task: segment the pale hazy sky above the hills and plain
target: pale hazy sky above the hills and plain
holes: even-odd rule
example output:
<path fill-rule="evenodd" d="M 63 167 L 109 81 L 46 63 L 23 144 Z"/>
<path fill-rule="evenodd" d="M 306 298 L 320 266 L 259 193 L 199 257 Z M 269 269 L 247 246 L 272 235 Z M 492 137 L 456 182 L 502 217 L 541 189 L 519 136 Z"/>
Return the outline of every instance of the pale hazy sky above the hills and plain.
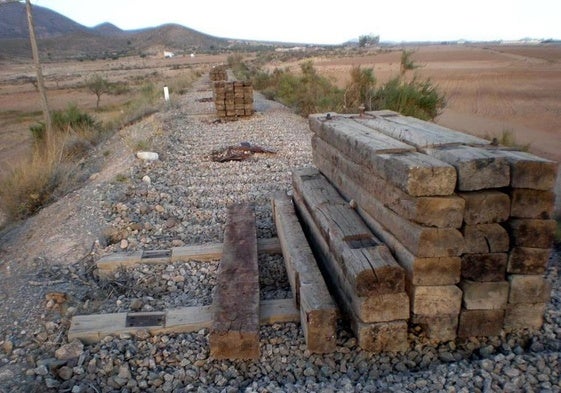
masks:
<path fill-rule="evenodd" d="M 561 38 L 561 0 L 32 0 L 78 23 L 178 23 L 216 37 L 339 44 Z"/>

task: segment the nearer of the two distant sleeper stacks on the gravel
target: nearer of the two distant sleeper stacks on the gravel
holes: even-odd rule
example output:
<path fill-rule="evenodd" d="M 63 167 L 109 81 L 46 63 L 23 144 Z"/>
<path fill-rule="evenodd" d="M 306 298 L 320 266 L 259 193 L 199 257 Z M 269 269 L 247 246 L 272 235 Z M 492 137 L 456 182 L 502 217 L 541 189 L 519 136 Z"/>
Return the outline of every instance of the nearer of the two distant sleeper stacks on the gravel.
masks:
<path fill-rule="evenodd" d="M 251 82 L 216 81 L 213 99 L 220 118 L 238 118 L 253 115 L 253 86 Z"/>

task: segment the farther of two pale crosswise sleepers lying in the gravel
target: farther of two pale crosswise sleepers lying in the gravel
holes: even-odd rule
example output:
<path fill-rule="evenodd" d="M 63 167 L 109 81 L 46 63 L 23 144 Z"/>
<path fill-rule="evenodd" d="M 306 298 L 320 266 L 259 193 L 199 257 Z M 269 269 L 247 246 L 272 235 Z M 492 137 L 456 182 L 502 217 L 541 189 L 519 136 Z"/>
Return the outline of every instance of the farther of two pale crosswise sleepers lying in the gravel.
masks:
<path fill-rule="evenodd" d="M 146 251 L 115 253 L 107 255 L 97 261 L 97 269 L 101 276 L 108 275 L 121 267 L 130 267 L 149 263 L 174 263 L 187 261 L 218 261 L 222 258 L 222 243 L 208 243 L 184 247 L 173 247 L 169 256 L 165 258 L 145 258 Z M 168 253 L 168 250 L 156 250 L 152 253 Z M 257 239 L 257 252 L 267 254 L 281 254 L 282 250 L 278 238 Z"/>

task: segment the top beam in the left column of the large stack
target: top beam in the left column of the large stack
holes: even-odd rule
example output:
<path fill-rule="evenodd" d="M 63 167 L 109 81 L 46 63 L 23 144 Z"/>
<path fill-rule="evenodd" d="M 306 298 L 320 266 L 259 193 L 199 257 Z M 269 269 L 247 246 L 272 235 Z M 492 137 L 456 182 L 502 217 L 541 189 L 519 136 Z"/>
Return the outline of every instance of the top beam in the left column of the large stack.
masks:
<path fill-rule="evenodd" d="M 339 116 L 339 115 L 338 115 Z M 341 116 L 344 117 L 344 116 Z M 322 140 L 336 146 L 354 163 L 368 168 L 369 173 L 379 176 L 412 196 L 451 195 L 456 187 L 456 170 L 426 154 L 412 150 L 399 154 L 381 154 L 380 149 L 368 149 L 368 145 L 355 148 L 325 132 L 325 116 L 310 116 L 310 128 Z M 352 122 L 351 119 L 346 121 Z M 328 129 L 329 130 L 329 129 Z M 345 134 L 344 129 L 339 130 Z M 356 141 L 355 141 L 356 142 Z"/>

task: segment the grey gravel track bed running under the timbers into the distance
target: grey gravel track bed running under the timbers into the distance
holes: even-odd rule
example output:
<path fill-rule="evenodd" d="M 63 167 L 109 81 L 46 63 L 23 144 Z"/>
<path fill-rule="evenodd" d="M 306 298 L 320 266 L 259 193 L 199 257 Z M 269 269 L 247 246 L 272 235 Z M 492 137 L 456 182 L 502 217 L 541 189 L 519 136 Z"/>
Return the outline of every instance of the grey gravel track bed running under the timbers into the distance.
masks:
<path fill-rule="evenodd" d="M 276 236 L 270 197 L 290 191 L 291 169 L 311 165 L 307 121 L 259 95 L 249 119 L 215 123 L 202 79 L 161 115 L 153 142 L 156 162 L 137 160 L 103 188 L 107 228 L 95 255 L 68 266 L 37 266 L 34 279 L 70 294 L 60 313 L 47 304 L 40 326 L 3 329 L 0 392 L 560 392 L 560 252 L 552 254 L 553 284 L 544 327 L 499 337 L 431 343 L 410 332 L 405 353 L 376 354 L 338 328 L 337 350 L 311 354 L 298 324 L 260 330 L 257 361 L 215 360 L 208 331 L 138 337 L 123 334 L 82 346 L 67 343 L 75 314 L 152 311 L 212 301 L 218 261 L 139 265 L 114 280 L 97 280 L 93 265 L 117 251 L 157 250 L 221 242 L 228 204 L 255 206 L 259 238 Z M 203 100 L 204 101 L 204 100 Z M 208 116 L 205 115 L 208 113 Z M 216 163 L 212 152 L 248 142 L 276 151 L 242 162 Z M 282 256 L 260 255 L 262 299 L 292 296 Z M 58 283 L 57 283 L 58 282 Z"/>

